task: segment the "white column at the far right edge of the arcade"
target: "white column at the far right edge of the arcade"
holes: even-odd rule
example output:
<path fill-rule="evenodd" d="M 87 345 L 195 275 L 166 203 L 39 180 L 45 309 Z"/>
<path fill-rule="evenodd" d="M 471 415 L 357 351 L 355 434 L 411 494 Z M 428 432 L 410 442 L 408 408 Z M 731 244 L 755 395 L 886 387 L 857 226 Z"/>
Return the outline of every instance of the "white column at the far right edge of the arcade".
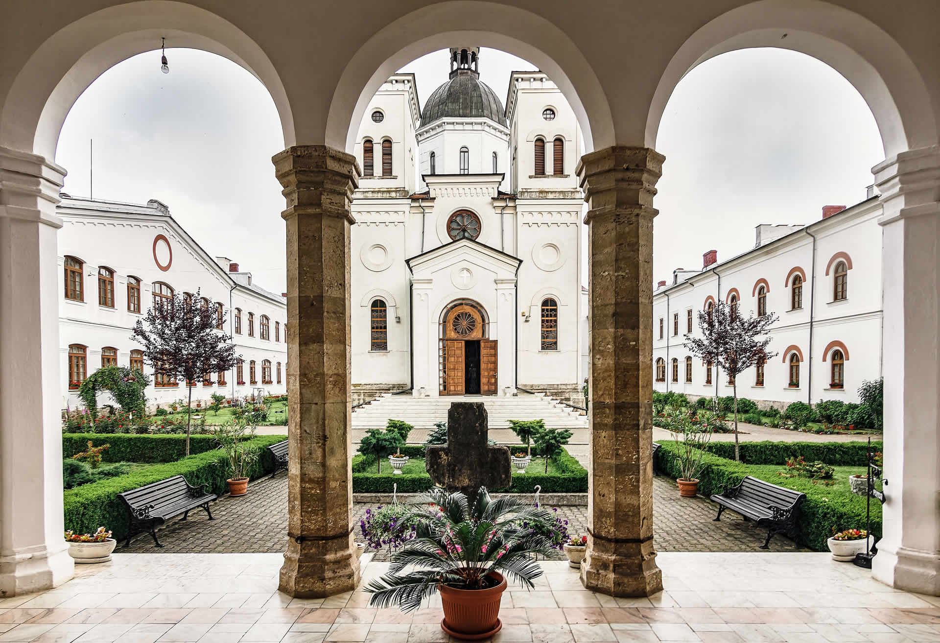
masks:
<path fill-rule="evenodd" d="M 940 146 L 872 168 L 884 215 L 884 538 L 872 572 L 940 595 Z M 856 288 L 864 288 L 860 284 Z"/>

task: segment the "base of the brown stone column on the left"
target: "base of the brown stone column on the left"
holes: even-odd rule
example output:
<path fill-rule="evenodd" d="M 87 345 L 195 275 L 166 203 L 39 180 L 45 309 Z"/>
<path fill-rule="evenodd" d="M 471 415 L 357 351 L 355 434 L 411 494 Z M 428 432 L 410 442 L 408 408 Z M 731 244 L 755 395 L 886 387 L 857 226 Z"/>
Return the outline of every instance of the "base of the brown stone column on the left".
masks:
<path fill-rule="evenodd" d="M 278 589 L 294 598 L 325 598 L 352 591 L 360 578 L 354 550 L 352 537 L 348 541 L 290 539 Z"/>

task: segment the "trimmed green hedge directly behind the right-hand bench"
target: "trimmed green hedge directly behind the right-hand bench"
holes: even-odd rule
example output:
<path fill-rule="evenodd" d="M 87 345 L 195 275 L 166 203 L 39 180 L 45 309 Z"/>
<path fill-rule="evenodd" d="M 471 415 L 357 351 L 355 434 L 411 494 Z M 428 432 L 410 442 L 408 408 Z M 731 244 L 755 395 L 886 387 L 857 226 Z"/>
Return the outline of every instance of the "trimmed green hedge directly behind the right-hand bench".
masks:
<path fill-rule="evenodd" d="M 672 478 L 681 473 L 676 458 L 678 451 L 674 442 L 662 442 L 656 452 L 656 466 Z M 744 444 L 741 445 L 744 447 Z M 795 489 L 807 494 L 800 506 L 797 520 L 798 540 L 817 552 L 828 551 L 826 540 L 834 533 L 850 528 L 865 528 L 865 498 L 851 492 L 821 484 L 813 484 L 807 478 L 784 478 L 777 476 L 776 467 L 736 463 L 733 460 L 707 454 L 705 467 L 698 475 L 698 494 L 708 497 L 720 494 L 729 487 L 737 486 L 744 476 L 754 476 L 779 487 Z M 836 472 L 837 476 L 843 472 Z M 875 538 L 882 535 L 881 506 L 871 503 L 871 533 Z"/>

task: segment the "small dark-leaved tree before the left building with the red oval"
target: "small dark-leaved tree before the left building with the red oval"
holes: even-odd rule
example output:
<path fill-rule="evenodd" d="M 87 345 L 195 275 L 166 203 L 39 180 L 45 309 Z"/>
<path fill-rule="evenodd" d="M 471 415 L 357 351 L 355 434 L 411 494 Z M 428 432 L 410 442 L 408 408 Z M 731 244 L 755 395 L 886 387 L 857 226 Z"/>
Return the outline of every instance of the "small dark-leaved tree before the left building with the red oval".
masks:
<path fill-rule="evenodd" d="M 137 320 L 131 338 L 144 347 L 144 362 L 154 374 L 171 382 L 182 379 L 189 391 L 186 404 L 186 455 L 189 455 L 189 435 L 192 423 L 193 386 L 207 373 L 228 370 L 242 358 L 235 354 L 231 336 L 218 330 L 225 328 L 225 318 L 219 321 L 216 305 L 200 306 L 196 296 L 162 300 L 153 306 L 142 320 Z"/>

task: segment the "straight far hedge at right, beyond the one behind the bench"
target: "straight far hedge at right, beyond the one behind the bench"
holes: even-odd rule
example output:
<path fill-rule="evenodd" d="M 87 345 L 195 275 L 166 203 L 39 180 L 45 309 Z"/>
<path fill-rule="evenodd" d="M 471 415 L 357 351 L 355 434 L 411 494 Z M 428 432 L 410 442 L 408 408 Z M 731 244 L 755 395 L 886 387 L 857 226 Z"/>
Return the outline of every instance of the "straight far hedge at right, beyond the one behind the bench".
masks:
<path fill-rule="evenodd" d="M 865 442 L 742 442 L 741 462 L 747 464 L 786 464 L 803 456 L 834 466 L 866 466 L 869 445 Z M 706 451 L 734 460 L 733 442 L 710 442 Z M 872 451 L 883 450 L 881 442 L 871 443 Z"/>

